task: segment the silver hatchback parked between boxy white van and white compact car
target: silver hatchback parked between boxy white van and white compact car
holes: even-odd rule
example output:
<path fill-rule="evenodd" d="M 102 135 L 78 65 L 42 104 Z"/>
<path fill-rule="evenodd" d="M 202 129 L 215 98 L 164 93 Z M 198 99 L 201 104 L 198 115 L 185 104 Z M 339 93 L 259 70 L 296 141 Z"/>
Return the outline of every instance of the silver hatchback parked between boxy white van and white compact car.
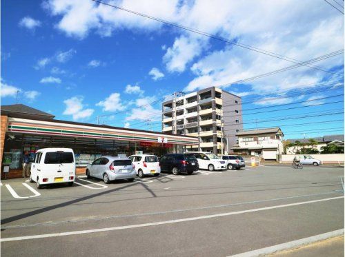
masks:
<path fill-rule="evenodd" d="M 119 179 L 134 181 L 137 172 L 129 158 L 102 156 L 86 166 L 86 176 L 88 178 L 101 178 L 104 183 Z"/>

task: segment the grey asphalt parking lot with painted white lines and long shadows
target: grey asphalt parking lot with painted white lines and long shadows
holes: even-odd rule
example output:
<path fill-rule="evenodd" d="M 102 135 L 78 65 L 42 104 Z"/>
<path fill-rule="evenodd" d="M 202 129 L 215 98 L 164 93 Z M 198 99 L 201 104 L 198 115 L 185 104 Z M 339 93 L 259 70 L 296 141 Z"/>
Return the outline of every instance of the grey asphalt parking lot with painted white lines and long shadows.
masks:
<path fill-rule="evenodd" d="M 344 229 L 340 176 L 342 167 L 265 166 L 110 185 L 82 176 L 40 190 L 1 181 L 1 255 L 242 254 Z"/>

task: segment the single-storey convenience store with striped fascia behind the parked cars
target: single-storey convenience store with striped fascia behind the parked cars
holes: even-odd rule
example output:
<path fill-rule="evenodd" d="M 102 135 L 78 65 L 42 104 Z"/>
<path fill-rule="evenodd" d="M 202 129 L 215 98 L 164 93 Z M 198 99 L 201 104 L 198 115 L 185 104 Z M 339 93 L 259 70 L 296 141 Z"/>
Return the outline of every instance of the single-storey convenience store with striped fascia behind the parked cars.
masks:
<path fill-rule="evenodd" d="M 45 147 L 72 148 L 77 173 L 102 155 L 130 156 L 151 153 L 161 156 L 199 144 L 198 138 L 109 125 L 54 119 L 55 116 L 26 105 L 1 106 L 1 178 L 21 177 L 23 152 L 33 160 Z M 5 172 L 4 172 L 5 171 Z"/>

